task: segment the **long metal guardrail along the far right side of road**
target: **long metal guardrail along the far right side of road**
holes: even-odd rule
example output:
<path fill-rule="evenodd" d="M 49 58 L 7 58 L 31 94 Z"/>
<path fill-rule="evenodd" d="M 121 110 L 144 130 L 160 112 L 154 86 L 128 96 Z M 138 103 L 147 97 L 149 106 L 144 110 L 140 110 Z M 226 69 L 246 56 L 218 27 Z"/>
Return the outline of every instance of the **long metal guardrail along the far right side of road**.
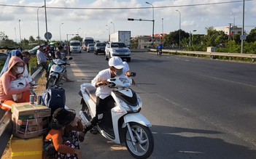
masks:
<path fill-rule="evenodd" d="M 156 49 L 150 49 L 151 52 L 156 52 Z M 225 53 L 225 52 L 192 52 L 192 51 L 180 51 L 163 49 L 162 52 L 168 52 L 171 54 L 197 54 L 206 55 L 212 57 L 240 57 L 240 58 L 250 58 L 252 62 L 255 62 L 256 54 L 238 54 L 238 53 Z"/>

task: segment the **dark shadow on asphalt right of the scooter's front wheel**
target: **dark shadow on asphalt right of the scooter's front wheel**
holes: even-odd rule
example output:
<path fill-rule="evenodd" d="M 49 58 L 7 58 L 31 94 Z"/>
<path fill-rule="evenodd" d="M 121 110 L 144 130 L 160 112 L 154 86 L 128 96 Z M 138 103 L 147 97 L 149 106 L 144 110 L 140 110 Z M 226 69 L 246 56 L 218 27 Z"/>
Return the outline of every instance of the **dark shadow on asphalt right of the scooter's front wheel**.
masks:
<path fill-rule="evenodd" d="M 217 138 L 219 131 L 152 126 L 152 132 L 155 149 L 150 158 L 256 158 L 255 150 Z"/>

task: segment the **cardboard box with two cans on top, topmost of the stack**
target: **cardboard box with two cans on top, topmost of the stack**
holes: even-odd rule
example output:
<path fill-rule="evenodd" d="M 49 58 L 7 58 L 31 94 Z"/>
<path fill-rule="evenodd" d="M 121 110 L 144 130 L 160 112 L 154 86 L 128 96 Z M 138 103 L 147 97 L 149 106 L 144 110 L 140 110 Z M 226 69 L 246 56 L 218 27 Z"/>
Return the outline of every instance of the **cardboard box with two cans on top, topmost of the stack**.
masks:
<path fill-rule="evenodd" d="M 22 102 L 12 105 L 12 114 L 18 120 L 43 118 L 51 115 L 51 109 L 44 105 L 32 105 L 29 102 Z"/>

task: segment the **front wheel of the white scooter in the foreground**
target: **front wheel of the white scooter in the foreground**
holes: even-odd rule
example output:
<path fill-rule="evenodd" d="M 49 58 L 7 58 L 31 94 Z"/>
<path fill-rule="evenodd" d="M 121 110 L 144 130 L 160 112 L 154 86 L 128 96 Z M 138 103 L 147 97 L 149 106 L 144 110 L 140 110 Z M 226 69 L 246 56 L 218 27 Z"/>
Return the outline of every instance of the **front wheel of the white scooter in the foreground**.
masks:
<path fill-rule="evenodd" d="M 147 126 L 139 123 L 130 123 L 135 142 L 127 129 L 125 133 L 125 145 L 134 158 L 149 158 L 154 150 L 154 139 L 152 132 Z"/>

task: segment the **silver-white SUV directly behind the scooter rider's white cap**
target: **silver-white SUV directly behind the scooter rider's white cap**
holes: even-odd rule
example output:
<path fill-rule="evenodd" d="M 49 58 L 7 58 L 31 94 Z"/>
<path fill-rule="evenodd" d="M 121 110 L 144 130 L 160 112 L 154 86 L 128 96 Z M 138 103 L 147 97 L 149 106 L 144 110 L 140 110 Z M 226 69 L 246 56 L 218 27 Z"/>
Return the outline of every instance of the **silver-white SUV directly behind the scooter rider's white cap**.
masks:
<path fill-rule="evenodd" d="M 130 62 L 131 50 L 124 43 L 109 42 L 105 47 L 105 60 L 109 60 L 111 57 L 120 57 Z"/>

